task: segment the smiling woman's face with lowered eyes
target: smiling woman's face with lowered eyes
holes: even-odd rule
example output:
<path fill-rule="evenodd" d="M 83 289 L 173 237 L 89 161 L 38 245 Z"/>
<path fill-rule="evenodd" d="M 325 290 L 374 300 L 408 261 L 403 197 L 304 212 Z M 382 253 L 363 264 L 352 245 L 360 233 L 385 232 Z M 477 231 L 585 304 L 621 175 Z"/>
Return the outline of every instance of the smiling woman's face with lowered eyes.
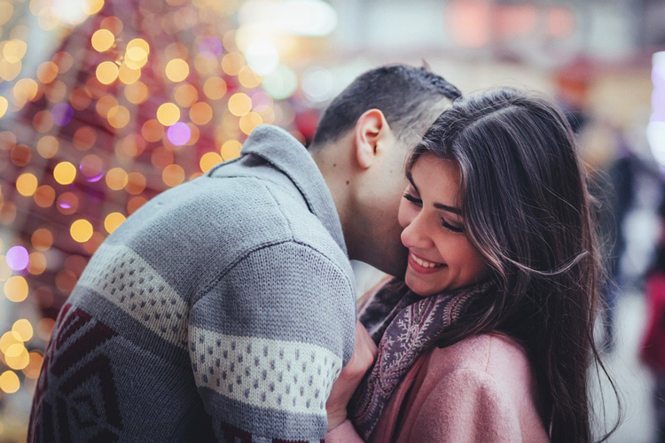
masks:
<path fill-rule="evenodd" d="M 489 274 L 465 235 L 458 200 L 459 168 L 425 155 L 411 168 L 400 204 L 402 243 L 409 248 L 404 277 L 411 291 L 429 296 L 473 284 Z"/>

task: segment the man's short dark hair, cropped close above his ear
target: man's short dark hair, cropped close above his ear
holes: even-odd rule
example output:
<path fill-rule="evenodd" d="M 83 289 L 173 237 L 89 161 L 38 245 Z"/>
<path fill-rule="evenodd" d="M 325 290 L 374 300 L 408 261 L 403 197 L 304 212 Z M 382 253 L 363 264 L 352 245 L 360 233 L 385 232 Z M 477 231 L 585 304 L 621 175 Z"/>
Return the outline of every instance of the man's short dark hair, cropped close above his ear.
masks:
<path fill-rule="evenodd" d="M 358 76 L 332 100 L 318 123 L 312 145 L 337 140 L 370 109 L 384 114 L 398 138 L 420 137 L 443 111 L 436 104 L 461 96 L 459 89 L 430 72 L 428 66 L 380 66 Z"/>

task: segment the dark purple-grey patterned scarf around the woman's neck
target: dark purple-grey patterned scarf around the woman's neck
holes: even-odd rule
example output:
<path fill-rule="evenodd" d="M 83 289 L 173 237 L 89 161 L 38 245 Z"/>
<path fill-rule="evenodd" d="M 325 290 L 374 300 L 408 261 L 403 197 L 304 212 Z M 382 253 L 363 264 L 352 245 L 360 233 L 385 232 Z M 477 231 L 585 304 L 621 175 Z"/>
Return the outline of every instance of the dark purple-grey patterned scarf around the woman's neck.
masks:
<path fill-rule="evenodd" d="M 374 294 L 360 321 L 379 343 L 379 355 L 348 404 L 348 416 L 366 441 L 411 366 L 436 346 L 473 300 L 493 287 L 487 281 L 423 298 L 392 280 Z"/>

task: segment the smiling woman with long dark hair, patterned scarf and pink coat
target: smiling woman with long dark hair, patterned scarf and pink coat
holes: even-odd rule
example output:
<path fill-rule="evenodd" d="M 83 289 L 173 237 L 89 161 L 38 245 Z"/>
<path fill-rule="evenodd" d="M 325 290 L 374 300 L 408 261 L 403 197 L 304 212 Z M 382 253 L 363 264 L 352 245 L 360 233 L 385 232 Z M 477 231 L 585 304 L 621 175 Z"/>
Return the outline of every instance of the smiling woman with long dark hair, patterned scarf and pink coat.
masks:
<path fill-rule="evenodd" d="M 458 99 L 407 177 L 408 288 L 364 308 L 377 361 L 348 408 L 342 371 L 326 441 L 590 442 L 599 253 L 565 118 L 513 89 Z"/>

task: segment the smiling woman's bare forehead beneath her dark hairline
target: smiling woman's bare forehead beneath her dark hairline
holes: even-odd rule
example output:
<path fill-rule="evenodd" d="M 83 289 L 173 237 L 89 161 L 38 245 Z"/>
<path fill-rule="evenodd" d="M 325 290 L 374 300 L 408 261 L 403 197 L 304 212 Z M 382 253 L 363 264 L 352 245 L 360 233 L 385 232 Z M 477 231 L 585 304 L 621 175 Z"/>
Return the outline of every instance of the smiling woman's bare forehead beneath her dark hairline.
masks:
<path fill-rule="evenodd" d="M 424 155 L 411 168 L 421 197 L 447 206 L 459 206 L 459 167 L 448 159 Z"/>

